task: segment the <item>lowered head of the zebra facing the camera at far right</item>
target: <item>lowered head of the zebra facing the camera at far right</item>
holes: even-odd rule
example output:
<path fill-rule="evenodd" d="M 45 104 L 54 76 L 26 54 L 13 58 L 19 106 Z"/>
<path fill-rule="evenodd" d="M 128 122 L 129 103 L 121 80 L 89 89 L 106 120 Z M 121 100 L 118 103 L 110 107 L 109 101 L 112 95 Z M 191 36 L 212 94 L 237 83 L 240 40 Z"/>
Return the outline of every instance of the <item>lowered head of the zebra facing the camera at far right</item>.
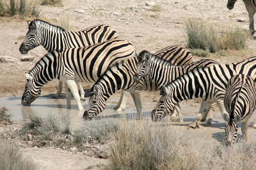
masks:
<path fill-rule="evenodd" d="M 237 122 L 240 121 L 240 116 L 237 115 L 233 120 L 229 121 L 225 126 L 226 145 L 231 145 L 237 141 Z"/>

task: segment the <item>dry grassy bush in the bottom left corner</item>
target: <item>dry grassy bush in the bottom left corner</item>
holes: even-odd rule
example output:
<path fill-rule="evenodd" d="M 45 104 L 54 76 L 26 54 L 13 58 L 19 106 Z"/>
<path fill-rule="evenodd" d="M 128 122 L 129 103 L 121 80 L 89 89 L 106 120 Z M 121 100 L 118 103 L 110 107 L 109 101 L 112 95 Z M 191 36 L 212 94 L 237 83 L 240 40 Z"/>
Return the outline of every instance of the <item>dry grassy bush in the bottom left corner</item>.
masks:
<path fill-rule="evenodd" d="M 39 165 L 25 158 L 18 147 L 7 142 L 0 143 L 0 169 L 40 169 Z"/>

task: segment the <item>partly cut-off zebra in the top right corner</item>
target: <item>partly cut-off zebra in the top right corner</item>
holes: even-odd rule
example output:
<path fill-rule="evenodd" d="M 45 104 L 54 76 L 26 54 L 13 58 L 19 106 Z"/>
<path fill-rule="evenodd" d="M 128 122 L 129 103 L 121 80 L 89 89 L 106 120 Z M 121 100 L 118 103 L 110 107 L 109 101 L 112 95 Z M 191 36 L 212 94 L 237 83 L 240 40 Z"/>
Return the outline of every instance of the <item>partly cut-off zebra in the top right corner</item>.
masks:
<path fill-rule="evenodd" d="M 229 10 L 232 10 L 234 7 L 234 4 L 237 2 L 237 0 L 229 0 L 228 5 L 226 6 Z M 254 14 L 256 12 L 256 0 L 243 0 L 243 3 L 245 3 L 245 8 L 249 15 L 249 29 L 251 35 L 254 35 L 255 29 L 254 29 Z"/>

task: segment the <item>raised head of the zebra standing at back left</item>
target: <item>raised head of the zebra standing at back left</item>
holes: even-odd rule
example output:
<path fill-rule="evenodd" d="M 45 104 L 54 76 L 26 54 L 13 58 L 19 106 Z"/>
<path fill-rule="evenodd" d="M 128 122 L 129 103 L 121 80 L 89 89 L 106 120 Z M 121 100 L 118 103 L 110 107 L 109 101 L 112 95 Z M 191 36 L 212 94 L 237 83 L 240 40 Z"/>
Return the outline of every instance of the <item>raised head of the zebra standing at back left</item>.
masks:
<path fill-rule="evenodd" d="M 36 21 L 27 22 L 28 31 L 24 38 L 24 41 L 19 47 L 19 51 L 22 54 L 27 54 L 27 52 L 31 49 L 36 48 L 42 44 L 42 31 L 39 25 L 36 24 Z"/>

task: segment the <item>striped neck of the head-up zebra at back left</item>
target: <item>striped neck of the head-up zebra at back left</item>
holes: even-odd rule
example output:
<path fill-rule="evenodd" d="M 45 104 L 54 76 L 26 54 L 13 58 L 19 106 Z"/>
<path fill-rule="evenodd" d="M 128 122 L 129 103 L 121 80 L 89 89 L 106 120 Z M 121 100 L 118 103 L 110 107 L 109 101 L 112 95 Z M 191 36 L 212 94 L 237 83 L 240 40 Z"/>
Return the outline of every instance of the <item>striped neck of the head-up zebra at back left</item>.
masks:
<path fill-rule="evenodd" d="M 51 26 L 43 28 L 42 30 L 42 45 L 48 52 L 52 50 L 63 50 L 66 44 L 64 43 L 64 36 L 61 29 Z"/>

